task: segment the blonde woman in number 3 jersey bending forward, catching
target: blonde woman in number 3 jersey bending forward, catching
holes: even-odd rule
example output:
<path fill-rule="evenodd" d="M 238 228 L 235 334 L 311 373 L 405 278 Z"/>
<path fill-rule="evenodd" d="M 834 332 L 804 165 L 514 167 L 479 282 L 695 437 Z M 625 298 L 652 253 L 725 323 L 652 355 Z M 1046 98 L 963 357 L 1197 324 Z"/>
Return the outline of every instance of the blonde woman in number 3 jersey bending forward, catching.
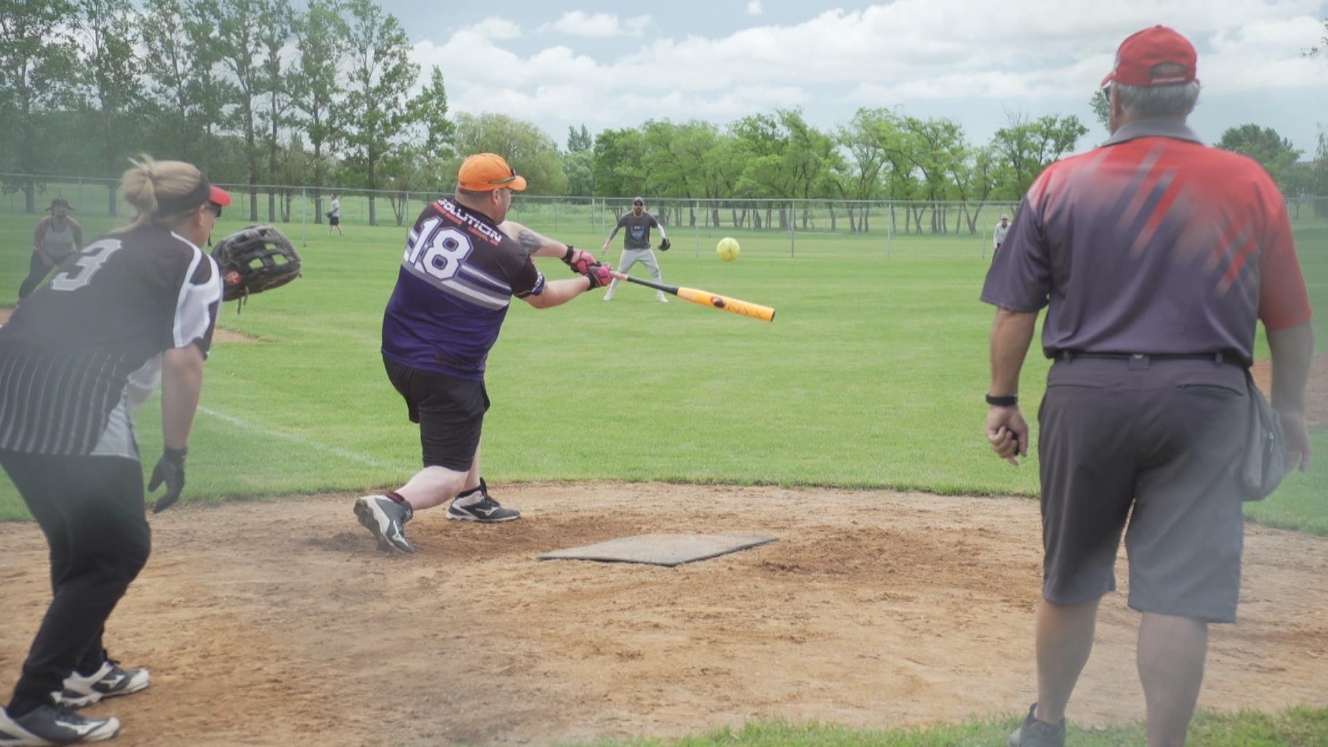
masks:
<path fill-rule="evenodd" d="M 231 198 L 194 166 L 143 157 L 125 171 L 134 222 L 100 237 L 0 327 L 0 465 L 50 545 L 53 597 L 0 711 L 0 744 L 109 739 L 114 718 L 70 710 L 147 687 L 102 647 L 106 618 L 147 562 L 143 472 L 130 411 L 162 381 L 166 449 L 155 509 L 185 455 L 222 284 L 207 242 Z"/>

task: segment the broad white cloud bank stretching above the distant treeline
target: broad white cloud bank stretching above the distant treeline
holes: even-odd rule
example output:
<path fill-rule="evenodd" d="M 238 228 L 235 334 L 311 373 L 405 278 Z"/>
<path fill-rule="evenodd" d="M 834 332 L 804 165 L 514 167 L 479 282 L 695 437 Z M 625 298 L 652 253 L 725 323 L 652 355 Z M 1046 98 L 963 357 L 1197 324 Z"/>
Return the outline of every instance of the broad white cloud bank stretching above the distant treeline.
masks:
<path fill-rule="evenodd" d="M 660 36 L 649 16 L 575 11 L 539 27 L 559 41 L 543 49 L 506 44 L 519 27 L 491 17 L 446 41 L 417 44 L 413 57 L 425 70 L 438 65 L 448 74 L 454 110 L 505 112 L 559 141 L 568 124 L 592 130 L 645 118 L 724 124 L 777 106 L 803 106 L 810 121 L 826 126 L 859 106 L 899 104 L 926 116 L 980 109 L 1000 118 L 1005 110 L 1072 102 L 1084 117 L 1120 41 L 1155 23 L 1198 47 L 1204 100 L 1226 106 L 1230 98 L 1222 97 L 1324 90 L 1321 61 L 1299 54 L 1321 35 L 1323 7 L 1321 0 L 1116 0 L 1066 12 L 1064 0 L 896 0 L 722 36 Z M 649 41 L 618 57 L 576 39 L 643 35 L 647 27 Z M 1308 101 L 1303 106 L 1312 109 Z M 965 129 L 983 137 L 980 124 Z"/>

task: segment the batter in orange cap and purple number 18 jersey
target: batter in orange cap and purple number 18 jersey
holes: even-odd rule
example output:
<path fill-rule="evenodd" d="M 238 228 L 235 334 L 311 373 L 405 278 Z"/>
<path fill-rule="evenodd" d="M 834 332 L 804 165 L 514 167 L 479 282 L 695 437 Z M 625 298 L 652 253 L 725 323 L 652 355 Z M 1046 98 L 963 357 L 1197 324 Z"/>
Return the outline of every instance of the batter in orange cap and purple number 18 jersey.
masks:
<path fill-rule="evenodd" d="M 513 296 L 550 308 L 611 278 L 588 253 L 505 221 L 513 193 L 523 189 L 526 179 L 501 157 L 471 156 L 461 165 L 456 195 L 426 205 L 410 229 L 382 316 L 382 363 L 410 421 L 420 424 L 424 469 L 396 490 L 355 501 L 356 517 L 382 549 L 413 553 L 402 526 L 416 510 L 448 501 L 448 518 L 521 516 L 490 497 L 479 476 L 489 350 Z M 582 276 L 546 280 L 531 257 L 559 257 Z"/>

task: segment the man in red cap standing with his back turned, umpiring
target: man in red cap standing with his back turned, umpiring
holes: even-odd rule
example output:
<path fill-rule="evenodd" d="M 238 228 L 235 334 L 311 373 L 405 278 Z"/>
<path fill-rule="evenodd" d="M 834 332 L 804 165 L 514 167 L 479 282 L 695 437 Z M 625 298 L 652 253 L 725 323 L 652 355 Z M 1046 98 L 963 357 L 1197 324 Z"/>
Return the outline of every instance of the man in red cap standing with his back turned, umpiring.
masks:
<path fill-rule="evenodd" d="M 1126 39 L 1109 88 L 1112 137 L 1033 182 L 983 300 L 991 336 L 987 437 L 1019 464 L 1019 372 L 1045 306 L 1056 363 L 1038 411 L 1042 603 L 1037 702 L 1012 747 L 1062 746 L 1065 707 L 1116 587 L 1121 534 L 1150 747 L 1183 744 L 1210 622 L 1234 622 L 1255 320 L 1272 350 L 1272 404 L 1292 463 L 1309 461 L 1309 300 L 1286 205 L 1254 161 L 1186 126 L 1195 52 L 1153 27 Z"/>

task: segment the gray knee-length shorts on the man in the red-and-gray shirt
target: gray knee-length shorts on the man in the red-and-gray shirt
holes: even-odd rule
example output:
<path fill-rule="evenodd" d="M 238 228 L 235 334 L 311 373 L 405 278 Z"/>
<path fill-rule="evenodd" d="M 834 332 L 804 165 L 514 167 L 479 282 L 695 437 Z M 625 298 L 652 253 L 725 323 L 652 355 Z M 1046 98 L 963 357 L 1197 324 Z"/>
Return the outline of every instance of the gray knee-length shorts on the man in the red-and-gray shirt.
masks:
<path fill-rule="evenodd" d="M 1244 371 L 1210 360 L 1053 364 L 1037 416 L 1042 597 L 1114 590 L 1123 532 L 1130 607 L 1234 622 L 1247 397 Z"/>

